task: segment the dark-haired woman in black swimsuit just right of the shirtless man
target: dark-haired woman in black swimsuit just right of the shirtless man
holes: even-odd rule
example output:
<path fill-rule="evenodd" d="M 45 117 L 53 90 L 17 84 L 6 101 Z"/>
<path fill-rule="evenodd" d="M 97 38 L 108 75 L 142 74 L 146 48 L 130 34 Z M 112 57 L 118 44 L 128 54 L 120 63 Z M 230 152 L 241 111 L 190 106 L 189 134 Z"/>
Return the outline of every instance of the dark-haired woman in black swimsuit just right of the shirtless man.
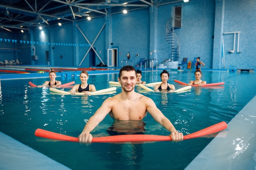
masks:
<path fill-rule="evenodd" d="M 154 90 L 156 92 L 159 91 L 168 91 L 170 93 L 172 93 L 173 91 L 175 91 L 175 86 L 173 84 L 168 84 L 168 79 L 169 79 L 169 73 L 166 70 L 163 70 L 162 73 L 160 74 L 161 79 L 162 79 L 162 83 L 161 84 L 157 84 L 155 85 Z"/>

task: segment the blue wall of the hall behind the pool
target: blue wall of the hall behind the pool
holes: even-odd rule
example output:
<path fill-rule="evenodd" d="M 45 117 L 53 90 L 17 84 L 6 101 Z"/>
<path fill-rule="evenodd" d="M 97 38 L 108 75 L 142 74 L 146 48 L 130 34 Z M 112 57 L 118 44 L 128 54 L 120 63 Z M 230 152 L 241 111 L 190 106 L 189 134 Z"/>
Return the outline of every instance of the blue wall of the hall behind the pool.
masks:
<path fill-rule="evenodd" d="M 96 39 L 93 44 L 99 55 L 95 56 L 96 64 L 101 61 L 107 64 L 107 49 L 111 48 L 118 49 L 119 67 L 122 60 L 128 59 L 128 52 L 133 66 L 140 58 L 157 59 L 160 64 L 171 58 L 165 25 L 177 6 L 182 7 L 182 26 L 174 31 L 181 42 L 179 61 L 183 57 L 193 61 L 200 56 L 204 68 L 224 68 L 222 61 L 225 61 L 227 69 L 256 69 L 255 0 L 190 0 L 189 3 L 181 0 L 128 11 L 126 15 L 117 13 L 43 30 L 34 27 L 25 33 L 0 31 L 0 61 L 19 59 L 27 65 L 89 67 L 90 57 L 86 53 Z M 234 45 L 234 34 L 223 34 L 228 32 L 240 32 L 239 52 L 238 34 L 234 53 L 228 52 Z M 49 52 L 49 61 L 45 59 L 45 51 Z M 32 60 L 32 55 L 37 55 L 38 60 Z"/>

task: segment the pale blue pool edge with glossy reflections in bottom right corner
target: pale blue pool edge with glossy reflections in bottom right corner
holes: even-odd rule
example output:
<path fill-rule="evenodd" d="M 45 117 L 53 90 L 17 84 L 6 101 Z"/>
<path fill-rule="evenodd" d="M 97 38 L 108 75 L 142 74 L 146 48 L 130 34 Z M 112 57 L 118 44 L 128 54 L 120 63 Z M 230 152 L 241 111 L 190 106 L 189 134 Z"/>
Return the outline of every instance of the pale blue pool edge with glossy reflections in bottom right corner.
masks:
<path fill-rule="evenodd" d="M 256 168 L 256 96 L 228 123 L 185 170 Z M 253 135 L 252 135 L 253 134 Z"/>

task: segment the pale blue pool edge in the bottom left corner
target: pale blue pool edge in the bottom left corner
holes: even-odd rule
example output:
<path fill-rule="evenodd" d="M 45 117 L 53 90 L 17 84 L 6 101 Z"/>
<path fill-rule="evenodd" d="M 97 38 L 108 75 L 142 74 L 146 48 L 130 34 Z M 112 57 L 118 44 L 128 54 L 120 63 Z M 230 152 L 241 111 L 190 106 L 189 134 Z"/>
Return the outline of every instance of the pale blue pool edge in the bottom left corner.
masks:
<path fill-rule="evenodd" d="M 70 170 L 0 132 L 0 170 Z"/>

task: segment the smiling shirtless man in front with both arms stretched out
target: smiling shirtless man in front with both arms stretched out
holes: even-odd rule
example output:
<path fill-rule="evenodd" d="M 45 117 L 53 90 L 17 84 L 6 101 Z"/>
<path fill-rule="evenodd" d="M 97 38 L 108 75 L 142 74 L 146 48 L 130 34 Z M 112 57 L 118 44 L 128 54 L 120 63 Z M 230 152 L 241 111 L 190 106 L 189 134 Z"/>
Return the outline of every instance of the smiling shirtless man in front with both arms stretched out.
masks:
<path fill-rule="evenodd" d="M 90 133 L 105 117 L 110 115 L 118 121 L 139 121 L 147 112 L 162 126 L 171 132 L 173 141 L 182 141 L 183 134 L 177 132 L 173 124 L 157 108 L 149 97 L 134 91 L 136 84 L 136 70 L 132 66 L 124 66 L 119 71 L 118 82 L 121 84 L 121 93 L 106 99 L 101 107 L 88 120 L 79 135 L 80 143 L 91 143 Z"/>

